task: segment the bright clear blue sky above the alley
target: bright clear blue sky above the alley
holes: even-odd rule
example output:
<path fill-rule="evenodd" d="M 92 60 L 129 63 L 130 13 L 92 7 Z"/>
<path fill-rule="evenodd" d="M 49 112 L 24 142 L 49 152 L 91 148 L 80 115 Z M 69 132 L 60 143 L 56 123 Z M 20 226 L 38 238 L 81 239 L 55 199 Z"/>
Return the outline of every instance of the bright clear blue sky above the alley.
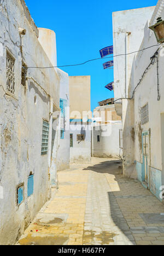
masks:
<path fill-rule="evenodd" d="M 54 30 L 57 65 L 81 63 L 100 57 L 99 50 L 113 45 L 112 12 L 156 5 L 157 0 L 25 0 L 38 27 Z M 113 97 L 104 86 L 113 81 L 113 70 L 97 60 L 83 66 L 62 68 L 69 75 L 91 75 L 91 110 L 98 101 Z"/>

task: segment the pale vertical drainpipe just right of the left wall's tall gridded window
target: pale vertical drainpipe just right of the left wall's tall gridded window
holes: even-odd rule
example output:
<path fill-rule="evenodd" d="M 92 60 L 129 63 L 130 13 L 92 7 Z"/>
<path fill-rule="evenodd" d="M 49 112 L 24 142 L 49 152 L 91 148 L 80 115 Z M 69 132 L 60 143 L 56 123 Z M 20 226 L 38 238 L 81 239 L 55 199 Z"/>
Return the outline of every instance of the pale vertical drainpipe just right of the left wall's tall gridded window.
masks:
<path fill-rule="evenodd" d="M 51 150 L 52 150 L 52 114 L 53 114 L 53 100 L 50 97 L 49 153 L 48 153 L 49 176 L 50 176 L 50 168 L 51 168 Z M 50 179 L 50 177 L 49 177 L 49 179 Z"/>

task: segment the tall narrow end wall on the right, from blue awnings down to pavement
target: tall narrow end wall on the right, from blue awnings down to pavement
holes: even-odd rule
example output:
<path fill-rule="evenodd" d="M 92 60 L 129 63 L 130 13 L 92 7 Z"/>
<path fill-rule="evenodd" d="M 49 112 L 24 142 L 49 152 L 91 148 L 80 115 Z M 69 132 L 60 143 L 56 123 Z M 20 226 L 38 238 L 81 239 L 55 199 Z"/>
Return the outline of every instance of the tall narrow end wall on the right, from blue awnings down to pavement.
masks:
<path fill-rule="evenodd" d="M 147 21 L 151 19 L 155 7 L 139 8 L 133 10 L 118 11 L 113 13 L 113 44 L 114 55 L 125 54 L 125 36 L 127 32 L 131 34 L 127 37 L 127 53 L 143 49 L 143 35 L 146 30 Z M 149 51 L 146 51 L 147 53 Z M 139 82 L 139 78 L 134 78 L 133 74 L 136 63 L 136 54 L 127 55 L 127 85 L 125 75 L 126 56 L 114 57 L 114 96 L 118 98 L 131 97 L 134 87 Z M 135 80 L 135 82 L 134 82 Z M 127 95 L 125 95 L 125 85 Z M 120 112 L 120 105 L 115 103 L 117 112 Z M 131 176 L 134 169 L 134 102 L 133 100 L 122 100 L 122 130 L 123 130 L 123 173 Z M 136 174 L 134 175 L 136 177 Z"/>

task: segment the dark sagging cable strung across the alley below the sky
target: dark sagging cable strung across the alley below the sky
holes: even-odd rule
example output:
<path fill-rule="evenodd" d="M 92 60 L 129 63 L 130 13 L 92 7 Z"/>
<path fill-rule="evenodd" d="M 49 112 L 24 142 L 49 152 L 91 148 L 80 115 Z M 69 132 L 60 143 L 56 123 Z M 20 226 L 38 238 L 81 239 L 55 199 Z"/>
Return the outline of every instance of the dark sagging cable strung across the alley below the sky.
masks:
<path fill-rule="evenodd" d="M 72 65 L 63 65 L 63 66 L 52 66 L 52 67 L 26 67 L 26 68 L 40 68 L 40 69 L 46 69 L 46 68 L 61 68 L 61 67 L 73 67 L 73 66 L 80 66 L 80 65 L 84 65 L 87 62 L 91 62 L 91 61 L 95 61 L 95 60 L 103 60 L 103 59 L 109 59 L 109 58 L 114 58 L 114 57 L 119 57 L 119 56 L 125 56 L 125 55 L 130 55 L 130 54 L 134 54 L 134 53 L 139 53 L 139 51 L 144 51 L 144 50 L 148 50 L 154 46 L 159 46 L 159 44 L 155 44 L 152 46 L 149 46 L 147 48 L 144 48 L 142 50 L 138 50 L 138 51 L 133 51 L 132 53 L 128 53 L 128 54 L 119 54 L 119 55 L 115 55 L 115 56 L 109 56 L 109 57 L 104 57 L 104 58 L 97 58 L 97 59 L 92 59 L 92 60 L 87 60 L 83 63 L 79 63 L 79 64 L 72 64 Z"/>

